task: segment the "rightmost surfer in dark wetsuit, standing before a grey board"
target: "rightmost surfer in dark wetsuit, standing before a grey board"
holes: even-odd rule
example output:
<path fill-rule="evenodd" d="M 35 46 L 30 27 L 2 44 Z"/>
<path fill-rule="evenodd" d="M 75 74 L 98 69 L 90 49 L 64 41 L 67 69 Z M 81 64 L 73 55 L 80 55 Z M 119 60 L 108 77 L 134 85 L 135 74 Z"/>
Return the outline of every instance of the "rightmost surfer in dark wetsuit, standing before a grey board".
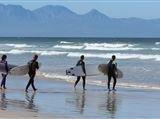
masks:
<path fill-rule="evenodd" d="M 115 86 L 117 83 L 117 63 L 115 62 L 116 56 L 113 55 L 111 60 L 108 63 L 108 90 L 111 91 L 110 89 L 110 82 L 111 78 L 113 78 L 113 90 L 116 91 Z"/>

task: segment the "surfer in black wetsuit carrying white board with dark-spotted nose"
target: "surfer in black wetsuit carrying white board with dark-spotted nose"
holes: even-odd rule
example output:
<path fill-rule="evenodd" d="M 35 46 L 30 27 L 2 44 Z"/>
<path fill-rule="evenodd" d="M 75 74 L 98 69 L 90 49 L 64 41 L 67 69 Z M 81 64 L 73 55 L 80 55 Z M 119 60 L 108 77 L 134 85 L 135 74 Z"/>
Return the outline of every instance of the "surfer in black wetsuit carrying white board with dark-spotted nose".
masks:
<path fill-rule="evenodd" d="M 76 88 L 76 85 L 78 84 L 79 80 L 82 77 L 82 79 L 83 79 L 83 90 L 86 90 L 85 89 L 85 85 L 86 85 L 86 69 L 85 69 L 84 55 L 81 55 L 80 60 L 77 62 L 76 66 L 82 66 L 82 70 L 83 70 L 85 76 L 77 76 L 77 80 L 76 80 L 76 82 L 74 84 L 74 88 Z"/>

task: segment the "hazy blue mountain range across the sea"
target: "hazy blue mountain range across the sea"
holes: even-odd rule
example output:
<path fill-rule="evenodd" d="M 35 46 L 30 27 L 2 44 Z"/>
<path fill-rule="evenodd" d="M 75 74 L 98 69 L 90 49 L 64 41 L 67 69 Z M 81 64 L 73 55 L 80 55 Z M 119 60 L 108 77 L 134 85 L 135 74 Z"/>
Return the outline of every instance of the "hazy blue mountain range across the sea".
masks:
<path fill-rule="evenodd" d="M 0 37 L 160 37 L 160 19 L 110 18 L 96 9 L 79 15 L 64 6 L 28 10 L 0 4 Z"/>

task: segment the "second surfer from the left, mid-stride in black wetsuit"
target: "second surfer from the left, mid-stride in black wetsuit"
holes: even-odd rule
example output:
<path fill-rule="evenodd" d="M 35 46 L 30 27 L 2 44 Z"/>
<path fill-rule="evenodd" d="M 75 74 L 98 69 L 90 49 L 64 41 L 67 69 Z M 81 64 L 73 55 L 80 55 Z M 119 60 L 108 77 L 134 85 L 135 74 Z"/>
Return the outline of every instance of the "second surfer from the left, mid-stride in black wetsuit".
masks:
<path fill-rule="evenodd" d="M 28 92 L 28 88 L 30 85 L 32 85 L 32 88 L 34 91 L 36 91 L 37 89 L 35 88 L 34 86 L 34 77 L 36 75 L 36 71 L 39 69 L 39 64 L 37 62 L 37 59 L 38 59 L 38 55 L 34 55 L 33 56 L 33 59 L 31 61 L 28 62 L 28 65 L 29 65 L 29 72 L 28 72 L 28 75 L 29 75 L 29 82 L 26 86 L 26 92 Z"/>

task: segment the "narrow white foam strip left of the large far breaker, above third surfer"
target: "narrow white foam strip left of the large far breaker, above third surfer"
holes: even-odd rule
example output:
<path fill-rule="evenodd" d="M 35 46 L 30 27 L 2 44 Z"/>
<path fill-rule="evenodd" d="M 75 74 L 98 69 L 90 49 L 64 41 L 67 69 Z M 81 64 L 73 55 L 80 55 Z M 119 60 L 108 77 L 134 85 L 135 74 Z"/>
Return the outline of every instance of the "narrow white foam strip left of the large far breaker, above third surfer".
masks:
<path fill-rule="evenodd" d="M 84 46 L 78 45 L 55 45 L 54 48 L 61 48 L 61 49 L 82 49 Z"/>

